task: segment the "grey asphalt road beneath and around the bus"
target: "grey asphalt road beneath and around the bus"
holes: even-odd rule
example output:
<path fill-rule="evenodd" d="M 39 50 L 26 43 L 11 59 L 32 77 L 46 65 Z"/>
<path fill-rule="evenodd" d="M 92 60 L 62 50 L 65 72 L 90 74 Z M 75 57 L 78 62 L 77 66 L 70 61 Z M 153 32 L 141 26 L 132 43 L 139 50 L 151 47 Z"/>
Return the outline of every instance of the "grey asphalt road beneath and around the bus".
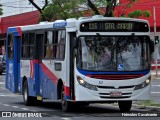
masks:
<path fill-rule="evenodd" d="M 160 101 L 160 80 L 152 80 L 152 99 L 156 102 Z M 3 113 L 2 113 L 3 112 Z M 6 113 L 7 112 L 7 113 Z M 9 112 L 9 113 L 8 113 Z M 10 113 L 11 112 L 11 113 Z M 19 113 L 19 114 L 18 114 Z M 117 105 L 112 104 L 91 104 L 86 107 L 73 109 L 71 112 L 62 112 L 59 102 L 44 101 L 40 106 L 25 106 L 21 95 L 15 95 L 5 88 L 5 75 L 0 76 L 0 116 L 11 114 L 12 118 L 5 119 L 28 119 L 25 116 L 30 115 L 30 120 L 35 119 L 31 115 L 36 113 L 38 120 L 55 119 L 55 120 L 107 120 L 107 119 L 134 119 L 140 114 L 157 114 L 159 117 L 136 117 L 136 119 L 159 119 L 160 109 L 146 108 L 143 106 L 133 106 L 129 115 L 125 115 L 119 111 Z M 19 115 L 19 116 L 18 116 Z M 23 116 L 24 118 L 21 118 Z M 42 116 L 42 118 L 40 118 Z M 131 117 L 132 116 L 132 117 Z M 111 117 L 111 118 L 110 118 Z M 2 118 L 0 118 L 1 120 Z M 3 118 L 4 119 L 4 118 Z"/>

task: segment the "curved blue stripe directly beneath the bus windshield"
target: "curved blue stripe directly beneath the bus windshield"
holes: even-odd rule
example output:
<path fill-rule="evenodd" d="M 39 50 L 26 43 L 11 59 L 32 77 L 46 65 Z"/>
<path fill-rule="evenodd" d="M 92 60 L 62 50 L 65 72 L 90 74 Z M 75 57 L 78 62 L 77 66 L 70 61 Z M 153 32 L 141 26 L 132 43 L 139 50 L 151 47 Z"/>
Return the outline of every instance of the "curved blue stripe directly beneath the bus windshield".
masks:
<path fill-rule="evenodd" d="M 117 71 L 117 72 L 99 72 L 99 71 L 88 71 L 88 70 L 82 70 L 77 68 L 77 70 L 83 74 L 83 75 L 87 75 L 87 74 L 91 74 L 91 75 L 104 75 L 104 74 L 109 74 L 109 75 L 123 75 L 123 74 L 148 74 L 150 72 L 150 70 L 144 70 L 144 71 Z"/>

